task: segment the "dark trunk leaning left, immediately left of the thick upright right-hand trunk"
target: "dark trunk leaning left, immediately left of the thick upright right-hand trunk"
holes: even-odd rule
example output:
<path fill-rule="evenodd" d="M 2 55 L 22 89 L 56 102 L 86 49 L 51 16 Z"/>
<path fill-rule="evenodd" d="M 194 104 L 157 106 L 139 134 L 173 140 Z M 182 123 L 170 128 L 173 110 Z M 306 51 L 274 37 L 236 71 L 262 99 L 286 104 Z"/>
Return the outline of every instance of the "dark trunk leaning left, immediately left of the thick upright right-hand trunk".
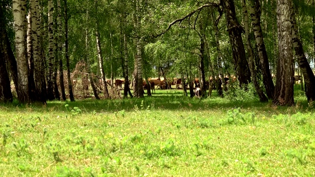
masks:
<path fill-rule="evenodd" d="M 250 1 L 250 13 L 252 17 L 252 29 L 254 31 L 256 45 L 258 49 L 258 55 L 261 63 L 261 70 L 263 75 L 263 83 L 266 89 L 266 93 L 269 99 L 272 99 L 275 92 L 275 86 L 271 78 L 271 73 L 269 69 L 269 62 L 267 51 L 262 36 L 262 30 L 260 26 L 260 4 L 259 0 L 249 0 Z"/>

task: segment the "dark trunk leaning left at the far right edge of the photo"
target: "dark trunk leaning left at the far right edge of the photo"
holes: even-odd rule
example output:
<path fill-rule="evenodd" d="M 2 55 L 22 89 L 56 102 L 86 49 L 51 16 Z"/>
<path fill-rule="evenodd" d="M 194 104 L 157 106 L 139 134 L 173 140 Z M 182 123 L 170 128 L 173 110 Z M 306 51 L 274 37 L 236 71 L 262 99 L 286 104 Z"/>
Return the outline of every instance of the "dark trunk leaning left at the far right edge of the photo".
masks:
<path fill-rule="evenodd" d="M 291 7 L 291 23 L 292 23 L 292 43 L 295 50 L 295 55 L 298 60 L 300 69 L 304 76 L 304 82 L 306 85 L 306 97 L 307 100 L 312 102 L 315 100 L 315 76 L 309 62 L 306 59 L 302 42 L 298 37 L 298 27 L 295 20 L 295 11 L 292 5 Z"/>

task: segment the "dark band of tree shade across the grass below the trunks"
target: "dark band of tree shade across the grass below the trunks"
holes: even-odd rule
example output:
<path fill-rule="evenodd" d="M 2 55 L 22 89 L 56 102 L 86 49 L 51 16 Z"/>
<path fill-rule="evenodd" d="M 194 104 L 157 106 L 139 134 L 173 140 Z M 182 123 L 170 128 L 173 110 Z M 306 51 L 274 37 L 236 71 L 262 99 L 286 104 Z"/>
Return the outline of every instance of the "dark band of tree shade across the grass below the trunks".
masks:
<path fill-rule="evenodd" d="M 189 95 L 189 94 L 188 94 Z M 127 112 L 134 111 L 135 107 L 141 109 L 150 110 L 169 110 L 169 111 L 215 111 L 221 110 L 226 112 L 227 110 L 234 108 L 242 108 L 248 110 L 248 112 L 260 112 L 266 115 L 278 115 L 288 114 L 297 111 L 308 112 L 312 111 L 308 106 L 308 102 L 305 97 L 295 98 L 298 99 L 298 106 L 294 107 L 274 107 L 272 101 L 267 103 L 261 103 L 259 100 L 250 101 L 230 101 L 226 98 L 221 98 L 216 91 L 210 98 L 198 99 L 184 96 L 182 90 L 157 90 L 157 93 L 153 93 L 153 96 L 146 96 L 144 98 L 127 98 L 117 100 L 95 100 L 85 99 L 70 101 L 49 101 L 47 106 L 43 106 L 39 103 L 31 105 L 18 105 L 15 102 L 7 105 L 0 105 L 0 107 L 6 107 L 7 112 L 14 112 L 16 109 L 32 108 L 35 112 L 47 112 L 49 110 L 54 111 L 67 111 L 65 105 L 71 110 L 74 107 L 80 108 L 82 111 L 90 113 L 96 112 L 118 112 L 125 110 Z M 1 111 L 1 109 L 0 109 Z"/>

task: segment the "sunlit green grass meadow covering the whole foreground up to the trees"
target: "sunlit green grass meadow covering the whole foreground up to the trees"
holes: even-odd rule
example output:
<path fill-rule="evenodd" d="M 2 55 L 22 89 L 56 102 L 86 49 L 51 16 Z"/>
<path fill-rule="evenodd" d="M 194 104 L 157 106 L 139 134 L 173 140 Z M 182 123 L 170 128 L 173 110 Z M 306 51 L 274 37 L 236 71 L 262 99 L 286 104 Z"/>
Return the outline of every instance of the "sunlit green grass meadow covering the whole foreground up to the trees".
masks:
<path fill-rule="evenodd" d="M 244 96 L 242 97 L 244 98 Z M 315 176 L 313 105 L 184 97 L 0 105 L 3 177 Z"/>

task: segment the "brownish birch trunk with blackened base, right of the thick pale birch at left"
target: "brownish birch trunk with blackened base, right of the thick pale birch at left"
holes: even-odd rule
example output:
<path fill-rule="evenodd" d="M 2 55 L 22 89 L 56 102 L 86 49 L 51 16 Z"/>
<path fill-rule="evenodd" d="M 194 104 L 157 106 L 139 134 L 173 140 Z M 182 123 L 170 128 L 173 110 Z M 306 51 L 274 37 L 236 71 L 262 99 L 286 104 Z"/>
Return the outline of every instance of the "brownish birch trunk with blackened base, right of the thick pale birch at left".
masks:
<path fill-rule="evenodd" d="M 33 46 L 33 58 L 34 58 L 34 84 L 35 84 L 35 100 L 46 104 L 46 81 L 44 60 L 41 55 L 40 46 L 40 17 L 39 17 L 39 3 L 38 0 L 30 0 L 30 6 L 32 7 L 32 46 Z"/>

